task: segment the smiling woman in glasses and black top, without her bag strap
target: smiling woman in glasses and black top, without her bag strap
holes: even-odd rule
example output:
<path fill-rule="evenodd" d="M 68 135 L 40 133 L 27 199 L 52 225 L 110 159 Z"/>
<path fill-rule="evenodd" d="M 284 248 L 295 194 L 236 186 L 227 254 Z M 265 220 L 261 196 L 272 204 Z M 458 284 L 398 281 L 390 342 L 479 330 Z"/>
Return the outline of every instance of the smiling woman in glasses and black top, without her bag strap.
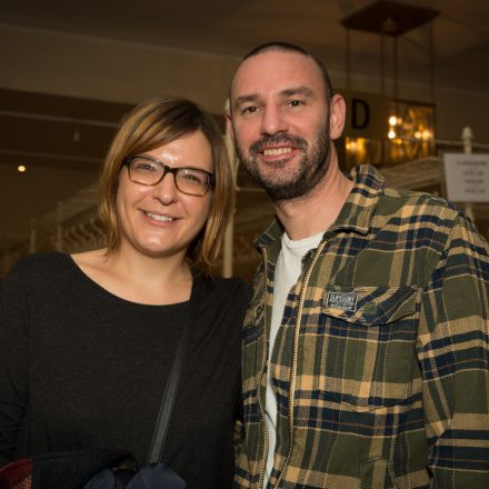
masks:
<path fill-rule="evenodd" d="M 107 249 L 30 256 L 1 287 L 0 466 L 107 448 L 144 463 L 199 283 L 163 461 L 189 488 L 231 486 L 248 289 L 209 276 L 231 209 L 209 114 L 180 99 L 129 114 L 100 180 Z"/>

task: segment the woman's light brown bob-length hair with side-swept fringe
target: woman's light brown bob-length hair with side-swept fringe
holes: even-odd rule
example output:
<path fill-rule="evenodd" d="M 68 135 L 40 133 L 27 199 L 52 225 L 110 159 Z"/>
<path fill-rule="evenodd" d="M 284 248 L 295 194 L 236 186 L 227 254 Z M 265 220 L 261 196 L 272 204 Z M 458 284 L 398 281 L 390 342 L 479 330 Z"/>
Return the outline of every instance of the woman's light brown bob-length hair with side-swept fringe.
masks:
<path fill-rule="evenodd" d="M 207 275 L 210 273 L 233 209 L 231 166 L 222 136 L 212 116 L 196 103 L 179 98 L 149 100 L 136 107 L 122 120 L 112 141 L 99 181 L 99 212 L 108 231 L 108 253 L 116 251 L 120 243 L 116 196 L 124 159 L 151 151 L 196 131 L 201 131 L 210 143 L 216 186 L 207 222 L 190 244 L 187 257 L 191 265 Z"/>

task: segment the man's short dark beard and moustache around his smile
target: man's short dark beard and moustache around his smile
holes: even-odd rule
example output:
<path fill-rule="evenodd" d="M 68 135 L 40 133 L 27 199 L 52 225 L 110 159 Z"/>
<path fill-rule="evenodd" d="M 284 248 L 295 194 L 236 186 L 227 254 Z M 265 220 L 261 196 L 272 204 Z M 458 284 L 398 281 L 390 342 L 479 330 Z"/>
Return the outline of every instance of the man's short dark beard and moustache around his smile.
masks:
<path fill-rule="evenodd" d="M 267 143 L 280 143 L 291 141 L 296 148 L 302 151 L 303 156 L 299 166 L 292 172 L 283 173 L 280 167 L 286 166 L 287 159 L 277 160 L 273 164 L 277 167 L 271 178 L 260 172 L 258 157 L 260 148 Z M 236 143 L 236 152 L 241 163 L 250 177 L 265 189 L 272 201 L 300 199 L 309 194 L 325 177 L 330 160 L 331 142 L 329 140 L 329 128 L 327 124 L 319 128 L 312 141 L 310 152 L 309 143 L 299 137 L 292 137 L 287 133 L 278 133 L 261 138 L 251 144 L 249 157 L 244 157 L 243 148 L 239 141 Z"/>

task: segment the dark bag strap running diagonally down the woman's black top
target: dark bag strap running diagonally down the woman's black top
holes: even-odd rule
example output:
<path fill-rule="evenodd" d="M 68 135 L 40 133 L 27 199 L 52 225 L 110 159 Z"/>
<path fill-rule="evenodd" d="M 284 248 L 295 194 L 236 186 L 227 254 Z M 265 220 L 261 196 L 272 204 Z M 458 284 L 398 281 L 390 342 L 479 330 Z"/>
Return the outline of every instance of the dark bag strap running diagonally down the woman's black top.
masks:
<path fill-rule="evenodd" d="M 163 455 L 164 441 L 167 439 L 168 426 L 173 410 L 174 400 L 177 398 L 178 385 L 180 382 L 181 372 L 183 370 L 183 359 L 187 350 L 187 343 L 190 335 L 191 326 L 194 322 L 197 305 L 200 295 L 201 279 L 193 277 L 192 291 L 190 293 L 189 311 L 187 321 L 183 326 L 180 343 L 171 366 L 170 376 L 168 377 L 167 387 L 164 388 L 163 398 L 161 399 L 160 411 L 158 413 L 157 425 L 149 449 L 148 462 L 154 463 L 161 460 Z"/>

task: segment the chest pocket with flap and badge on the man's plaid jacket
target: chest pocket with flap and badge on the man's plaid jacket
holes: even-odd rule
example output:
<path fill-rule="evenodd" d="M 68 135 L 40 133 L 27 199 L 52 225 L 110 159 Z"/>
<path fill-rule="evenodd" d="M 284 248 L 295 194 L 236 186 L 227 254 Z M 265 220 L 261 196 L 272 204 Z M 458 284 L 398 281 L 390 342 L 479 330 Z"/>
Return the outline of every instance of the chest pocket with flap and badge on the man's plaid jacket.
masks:
<path fill-rule="evenodd" d="M 326 290 L 325 397 L 369 411 L 409 402 L 419 316 L 419 293 L 411 287 L 332 286 Z M 326 382 L 327 383 L 327 382 Z"/>

